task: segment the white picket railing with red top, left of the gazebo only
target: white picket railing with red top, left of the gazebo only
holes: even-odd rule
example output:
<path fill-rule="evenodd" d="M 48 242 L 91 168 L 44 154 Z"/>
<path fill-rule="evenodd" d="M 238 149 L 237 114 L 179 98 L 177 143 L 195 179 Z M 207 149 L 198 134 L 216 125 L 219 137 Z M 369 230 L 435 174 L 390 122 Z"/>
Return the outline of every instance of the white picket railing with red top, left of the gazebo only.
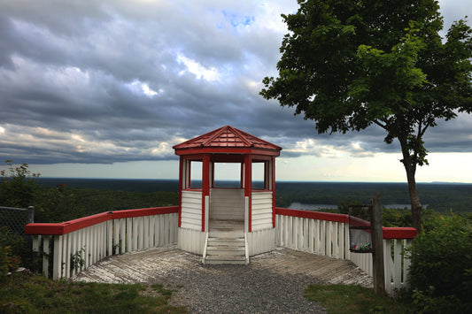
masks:
<path fill-rule="evenodd" d="M 108 211 L 58 224 L 28 224 L 43 275 L 69 278 L 104 257 L 177 242 L 178 206 Z"/>

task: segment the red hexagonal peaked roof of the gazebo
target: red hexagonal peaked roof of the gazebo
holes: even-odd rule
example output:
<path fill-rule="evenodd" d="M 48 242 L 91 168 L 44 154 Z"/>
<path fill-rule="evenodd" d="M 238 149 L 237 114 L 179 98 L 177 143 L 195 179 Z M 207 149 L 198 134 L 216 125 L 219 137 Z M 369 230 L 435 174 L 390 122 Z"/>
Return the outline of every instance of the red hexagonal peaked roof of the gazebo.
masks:
<path fill-rule="evenodd" d="M 191 153 L 247 153 L 251 152 L 253 149 L 262 149 L 272 151 L 272 153 L 267 155 L 274 155 L 274 152 L 276 152 L 278 156 L 280 150 L 282 150 L 282 148 L 277 145 L 247 134 L 233 126 L 220 127 L 219 129 L 200 135 L 192 140 L 177 144 L 173 148 L 177 155 L 185 154 L 183 150 L 191 151 Z"/>

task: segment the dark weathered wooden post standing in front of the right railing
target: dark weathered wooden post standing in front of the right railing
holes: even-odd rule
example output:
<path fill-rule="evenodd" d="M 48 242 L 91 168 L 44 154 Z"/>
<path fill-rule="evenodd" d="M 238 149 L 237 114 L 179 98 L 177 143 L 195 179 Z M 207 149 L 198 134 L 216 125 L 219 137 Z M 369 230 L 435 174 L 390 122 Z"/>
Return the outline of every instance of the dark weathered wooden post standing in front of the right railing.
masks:
<path fill-rule="evenodd" d="M 374 262 L 374 293 L 375 295 L 386 295 L 383 267 L 382 205 L 380 203 L 379 192 L 377 192 L 372 199 L 372 245 L 372 260 Z"/>

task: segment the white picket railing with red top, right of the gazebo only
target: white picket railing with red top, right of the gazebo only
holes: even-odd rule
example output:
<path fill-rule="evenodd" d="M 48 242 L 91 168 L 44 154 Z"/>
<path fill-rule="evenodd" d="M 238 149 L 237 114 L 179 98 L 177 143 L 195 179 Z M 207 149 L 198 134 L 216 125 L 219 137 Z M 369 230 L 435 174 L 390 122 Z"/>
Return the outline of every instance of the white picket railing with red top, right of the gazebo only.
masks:
<path fill-rule="evenodd" d="M 349 250 L 349 217 L 319 211 L 276 208 L 275 244 L 327 257 L 349 259 L 364 272 L 373 275 L 372 254 Z M 406 287 L 409 259 L 405 248 L 412 245 L 416 229 L 383 227 L 385 290 Z"/>

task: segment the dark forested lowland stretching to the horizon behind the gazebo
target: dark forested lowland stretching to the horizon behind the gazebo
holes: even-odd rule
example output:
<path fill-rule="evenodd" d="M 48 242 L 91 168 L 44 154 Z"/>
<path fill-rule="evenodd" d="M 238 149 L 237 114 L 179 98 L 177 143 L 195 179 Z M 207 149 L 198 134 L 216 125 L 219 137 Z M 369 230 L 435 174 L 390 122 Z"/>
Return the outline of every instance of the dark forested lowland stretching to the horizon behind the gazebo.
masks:
<path fill-rule="evenodd" d="M 90 188 L 151 193 L 179 190 L 178 180 L 127 180 L 127 179 L 74 179 L 40 178 L 45 187 L 56 187 L 65 183 L 70 188 Z M 223 182 L 237 186 L 234 181 Z M 198 184 L 198 183 L 197 183 Z M 259 183 L 257 183 L 259 185 Z M 376 192 L 380 192 L 382 203 L 410 203 L 406 183 L 365 182 L 289 182 L 277 181 L 276 206 L 288 207 L 290 203 L 332 204 L 360 201 L 368 203 Z M 418 183 L 423 205 L 435 211 L 472 212 L 472 184 L 463 183 Z"/>

